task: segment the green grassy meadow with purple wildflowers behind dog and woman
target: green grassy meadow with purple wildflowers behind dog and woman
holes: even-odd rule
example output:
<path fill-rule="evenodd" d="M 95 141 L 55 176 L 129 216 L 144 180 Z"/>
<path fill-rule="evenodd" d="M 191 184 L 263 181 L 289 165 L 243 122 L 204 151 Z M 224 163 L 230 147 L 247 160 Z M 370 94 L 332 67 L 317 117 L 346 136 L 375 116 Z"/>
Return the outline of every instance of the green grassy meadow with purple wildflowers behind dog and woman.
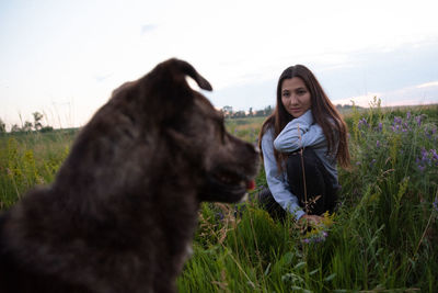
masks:
<path fill-rule="evenodd" d="M 180 292 L 438 292 L 438 105 L 344 113 L 351 167 L 336 212 L 303 233 L 254 199 L 205 203 Z M 227 120 L 256 143 L 263 117 Z M 74 131 L 0 136 L 0 207 L 54 180 Z"/>

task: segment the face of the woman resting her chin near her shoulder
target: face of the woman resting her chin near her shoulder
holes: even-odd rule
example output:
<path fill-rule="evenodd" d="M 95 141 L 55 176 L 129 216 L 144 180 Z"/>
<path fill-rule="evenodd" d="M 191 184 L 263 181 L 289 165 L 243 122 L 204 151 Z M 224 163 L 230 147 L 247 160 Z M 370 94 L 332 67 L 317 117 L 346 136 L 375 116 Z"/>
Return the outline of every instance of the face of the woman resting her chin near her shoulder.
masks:
<path fill-rule="evenodd" d="M 311 108 L 310 92 L 301 78 L 292 77 L 283 80 L 281 102 L 286 111 L 296 119 Z"/>

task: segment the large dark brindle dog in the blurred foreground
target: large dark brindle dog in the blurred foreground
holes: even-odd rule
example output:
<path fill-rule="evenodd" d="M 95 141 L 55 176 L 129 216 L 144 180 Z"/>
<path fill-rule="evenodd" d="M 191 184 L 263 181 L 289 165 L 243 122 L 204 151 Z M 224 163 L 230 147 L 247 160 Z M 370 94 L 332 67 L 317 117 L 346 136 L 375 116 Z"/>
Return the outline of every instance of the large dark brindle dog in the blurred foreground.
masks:
<path fill-rule="evenodd" d="M 176 292 L 200 202 L 240 201 L 258 151 L 224 128 L 192 65 L 116 89 L 49 187 L 0 218 L 0 292 Z"/>

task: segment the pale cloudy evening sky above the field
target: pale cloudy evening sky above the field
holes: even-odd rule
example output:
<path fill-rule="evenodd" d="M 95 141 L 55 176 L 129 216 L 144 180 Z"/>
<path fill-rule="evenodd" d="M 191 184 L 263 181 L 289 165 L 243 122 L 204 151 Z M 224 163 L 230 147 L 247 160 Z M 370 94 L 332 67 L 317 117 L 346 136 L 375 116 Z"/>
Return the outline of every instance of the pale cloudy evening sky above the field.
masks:
<path fill-rule="evenodd" d="M 436 0 L 0 0 L 0 119 L 84 125 L 128 80 L 177 57 L 220 109 L 275 105 L 306 65 L 334 104 L 438 103 Z"/>

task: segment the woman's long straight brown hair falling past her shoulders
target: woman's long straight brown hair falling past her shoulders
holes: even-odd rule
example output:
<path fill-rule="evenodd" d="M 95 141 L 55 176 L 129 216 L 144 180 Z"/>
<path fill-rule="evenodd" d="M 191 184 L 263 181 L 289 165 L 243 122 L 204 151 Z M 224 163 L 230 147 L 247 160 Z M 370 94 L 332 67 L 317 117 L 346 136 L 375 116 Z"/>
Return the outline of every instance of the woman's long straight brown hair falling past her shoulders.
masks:
<path fill-rule="evenodd" d="M 291 120 L 293 120 L 293 116 L 286 111 L 281 102 L 283 81 L 293 77 L 301 78 L 310 92 L 313 121 L 323 129 L 324 136 L 327 139 L 328 154 L 336 153 L 335 155 L 339 166 L 343 168 L 348 168 L 349 151 L 347 125 L 342 119 L 339 112 L 325 94 L 315 76 L 303 65 L 288 67 L 285 71 L 283 71 L 280 78 L 278 79 L 277 105 L 274 110 L 274 113 L 268 116 L 262 125 L 262 129 L 258 135 L 258 147 L 262 149 L 262 137 L 269 127 L 274 126 L 274 137 L 277 137 L 283 128 L 285 128 L 285 126 Z M 336 145 L 337 150 L 335 149 Z M 286 158 L 286 156 L 277 151 L 275 148 L 274 155 L 277 161 L 278 170 L 281 170 L 281 161 Z"/>

